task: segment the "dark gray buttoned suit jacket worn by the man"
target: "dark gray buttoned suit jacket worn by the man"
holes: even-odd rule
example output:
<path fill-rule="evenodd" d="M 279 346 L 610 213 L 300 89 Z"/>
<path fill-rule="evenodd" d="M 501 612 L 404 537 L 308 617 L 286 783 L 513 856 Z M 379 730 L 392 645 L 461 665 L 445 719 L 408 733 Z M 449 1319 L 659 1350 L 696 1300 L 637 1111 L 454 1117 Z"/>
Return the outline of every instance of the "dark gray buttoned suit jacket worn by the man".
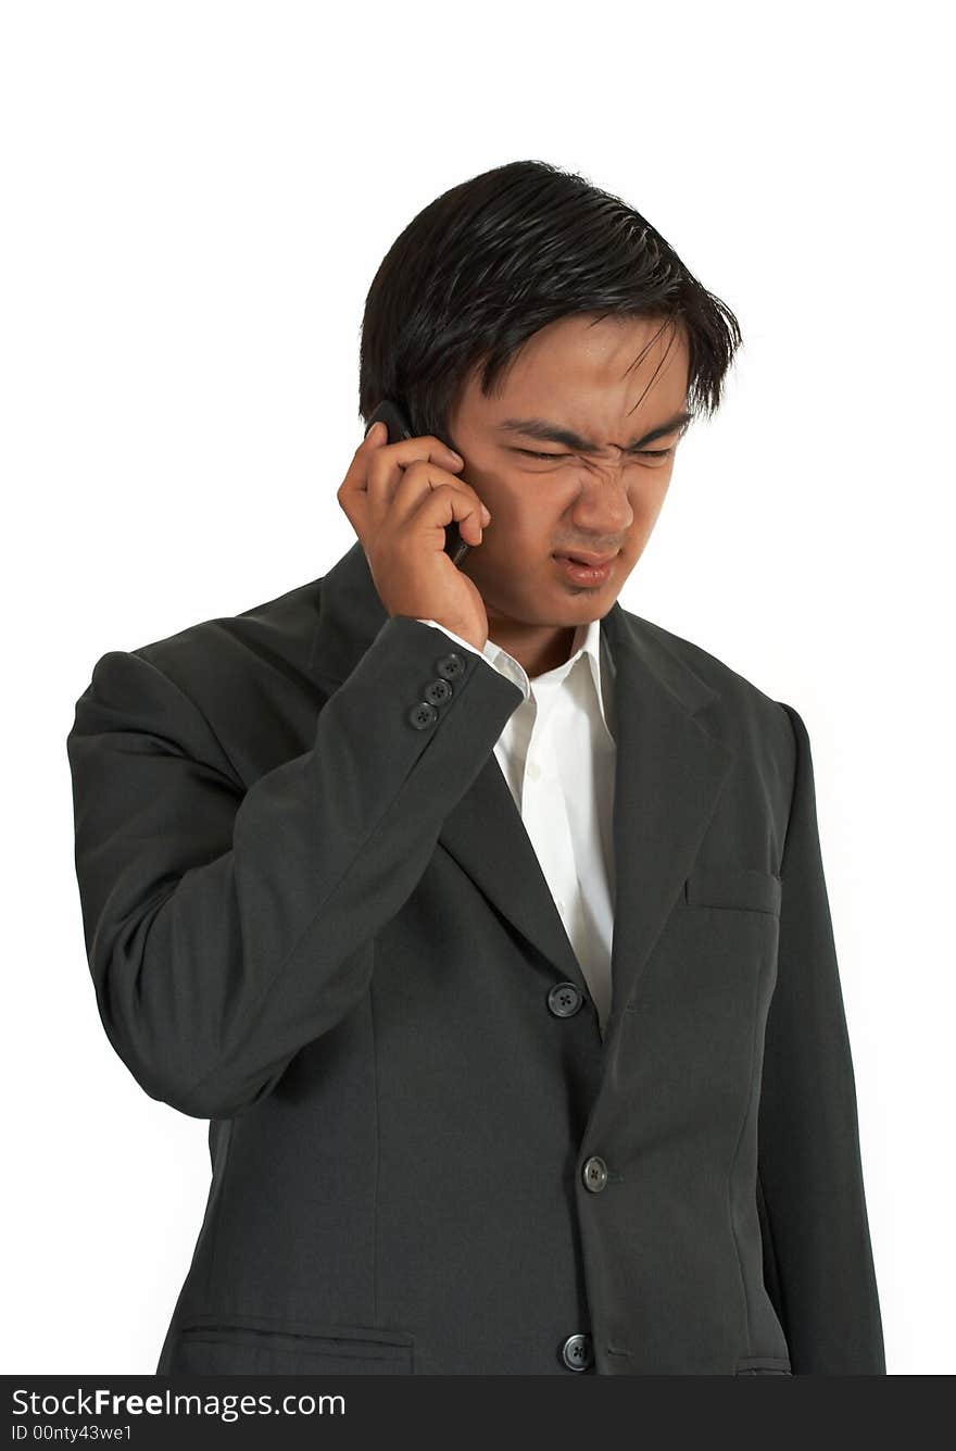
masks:
<path fill-rule="evenodd" d="M 68 737 L 103 1027 L 210 1120 L 171 1373 L 883 1374 L 807 731 L 615 604 L 614 1006 L 361 546 L 112 650 Z"/>

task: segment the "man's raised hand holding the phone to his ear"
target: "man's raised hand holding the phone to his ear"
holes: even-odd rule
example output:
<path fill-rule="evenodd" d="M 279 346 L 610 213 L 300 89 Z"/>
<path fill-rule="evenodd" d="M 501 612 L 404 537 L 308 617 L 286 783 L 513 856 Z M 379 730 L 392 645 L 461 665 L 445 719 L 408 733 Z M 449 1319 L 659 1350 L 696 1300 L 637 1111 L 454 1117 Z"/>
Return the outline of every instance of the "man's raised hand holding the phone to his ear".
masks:
<path fill-rule="evenodd" d="M 386 441 L 383 411 L 386 416 L 390 412 L 402 438 Z M 485 601 L 453 563 L 453 551 L 460 560 L 469 547 L 479 546 L 490 514 L 474 489 L 456 477 L 458 456 L 440 438 L 413 437 L 406 429 L 393 403 L 376 409 L 339 485 L 338 502 L 366 551 L 387 612 L 435 620 L 482 650 L 487 640 Z"/>

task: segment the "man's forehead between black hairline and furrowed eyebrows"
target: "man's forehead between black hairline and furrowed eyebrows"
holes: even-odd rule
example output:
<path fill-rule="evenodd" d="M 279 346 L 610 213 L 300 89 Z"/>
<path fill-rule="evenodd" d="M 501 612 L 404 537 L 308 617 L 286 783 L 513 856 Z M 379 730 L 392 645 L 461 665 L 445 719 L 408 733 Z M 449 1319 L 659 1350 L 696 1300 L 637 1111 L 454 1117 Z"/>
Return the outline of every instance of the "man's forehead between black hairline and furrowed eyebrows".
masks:
<path fill-rule="evenodd" d="M 612 443 L 677 412 L 688 392 L 683 329 L 659 318 L 595 316 L 561 318 L 535 332 L 490 398 L 480 371 L 473 374 L 463 412 L 490 425 L 544 416 Z"/>

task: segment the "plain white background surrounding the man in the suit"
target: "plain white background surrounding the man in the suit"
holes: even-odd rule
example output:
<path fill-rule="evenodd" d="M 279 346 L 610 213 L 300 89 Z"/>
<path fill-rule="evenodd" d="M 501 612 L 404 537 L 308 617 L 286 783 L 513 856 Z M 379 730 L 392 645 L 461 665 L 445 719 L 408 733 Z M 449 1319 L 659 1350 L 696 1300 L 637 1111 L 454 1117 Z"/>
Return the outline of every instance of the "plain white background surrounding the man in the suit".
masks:
<path fill-rule="evenodd" d="M 9 1373 L 151 1373 L 206 1125 L 99 1022 L 65 737 L 93 663 L 353 543 L 358 328 L 441 192 L 583 173 L 744 332 L 625 608 L 798 708 L 891 1374 L 952 1374 L 953 305 L 944 7 L 3 7 Z"/>

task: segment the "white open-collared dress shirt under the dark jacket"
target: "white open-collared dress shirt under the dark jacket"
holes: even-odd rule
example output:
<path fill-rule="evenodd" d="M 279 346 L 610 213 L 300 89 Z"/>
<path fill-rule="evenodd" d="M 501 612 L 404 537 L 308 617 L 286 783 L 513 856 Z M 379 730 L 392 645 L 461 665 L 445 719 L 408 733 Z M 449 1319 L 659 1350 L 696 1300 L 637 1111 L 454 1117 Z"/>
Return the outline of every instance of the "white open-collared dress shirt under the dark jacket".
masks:
<path fill-rule="evenodd" d="M 614 660 L 601 621 L 580 624 L 570 657 L 529 678 L 512 654 L 434 625 L 483 656 L 524 701 L 505 723 L 495 756 L 551 889 L 564 930 L 598 1010 L 603 1036 L 611 1011 L 614 937 L 614 773 L 617 759 Z"/>

